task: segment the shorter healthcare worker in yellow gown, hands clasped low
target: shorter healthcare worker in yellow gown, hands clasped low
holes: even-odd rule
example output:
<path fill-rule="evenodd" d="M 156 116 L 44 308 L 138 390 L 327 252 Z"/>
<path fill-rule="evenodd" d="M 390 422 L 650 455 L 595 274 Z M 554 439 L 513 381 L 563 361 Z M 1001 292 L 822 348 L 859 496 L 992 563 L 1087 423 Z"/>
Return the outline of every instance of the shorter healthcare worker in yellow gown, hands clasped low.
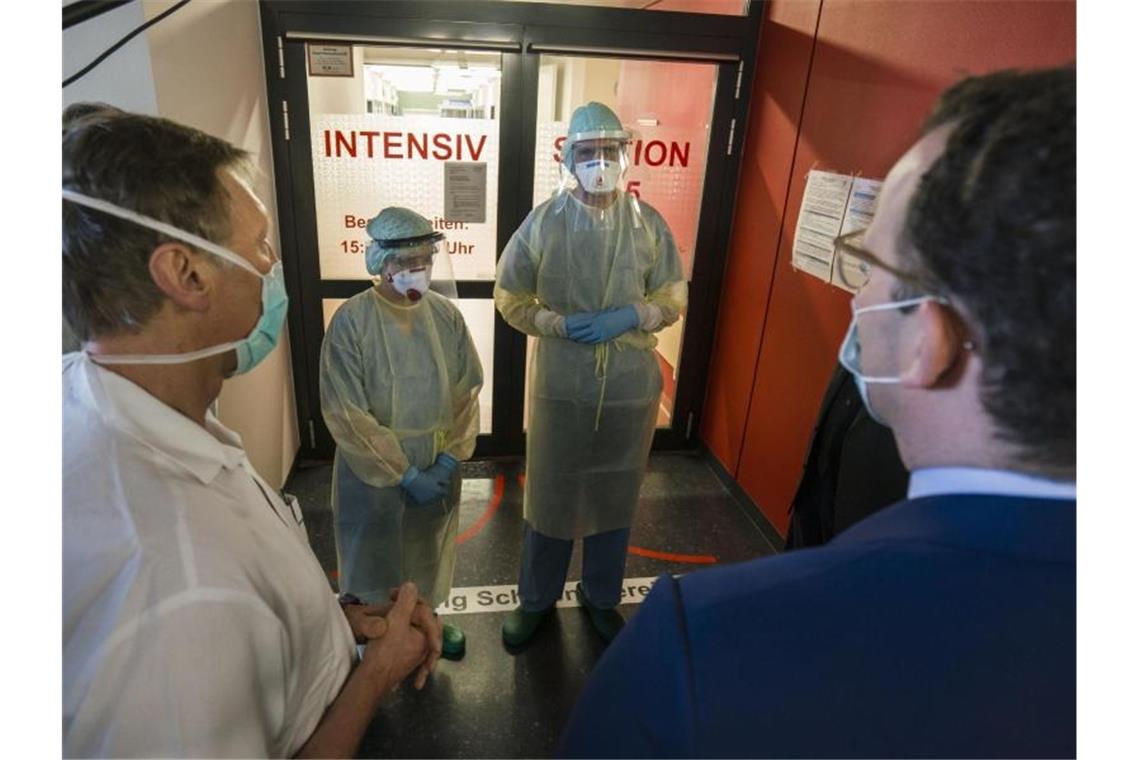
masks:
<path fill-rule="evenodd" d="M 459 463 L 475 448 L 483 373 L 463 316 L 432 287 L 433 269 L 437 288 L 441 270 L 450 276 L 442 234 L 396 206 L 367 230 L 377 279 L 336 310 L 320 353 L 340 588 L 376 603 L 410 580 L 437 606 L 451 589 Z M 464 645 L 445 623 L 443 656 Z"/>

